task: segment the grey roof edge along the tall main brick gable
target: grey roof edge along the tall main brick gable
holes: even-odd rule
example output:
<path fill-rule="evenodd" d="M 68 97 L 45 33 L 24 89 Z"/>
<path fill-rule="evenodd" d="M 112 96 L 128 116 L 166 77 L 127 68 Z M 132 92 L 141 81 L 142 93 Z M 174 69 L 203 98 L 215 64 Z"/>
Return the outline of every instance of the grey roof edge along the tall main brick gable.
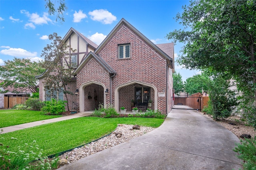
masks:
<path fill-rule="evenodd" d="M 100 51 L 100 49 L 102 49 L 104 47 L 104 45 L 108 42 L 108 40 L 112 37 L 112 35 L 116 32 L 116 30 L 123 24 L 125 23 L 126 25 L 128 25 L 128 27 L 130 27 L 135 33 L 137 33 L 140 37 L 142 37 L 142 39 L 144 39 L 144 41 L 146 41 L 148 44 L 150 44 L 154 49 L 156 49 L 156 51 L 158 51 L 160 54 L 162 54 L 168 64 L 172 63 L 173 59 L 166 53 L 164 53 L 164 51 L 162 51 L 162 49 L 160 49 L 158 46 L 156 46 L 154 43 L 152 43 L 152 41 L 150 41 L 147 37 L 145 37 L 142 33 L 140 33 L 140 31 L 138 31 L 134 26 L 132 26 L 128 21 L 126 21 L 124 18 L 122 18 L 122 20 L 120 20 L 118 22 L 118 24 L 114 27 L 114 29 L 112 29 L 112 31 L 108 34 L 108 36 L 102 41 L 102 43 L 100 43 L 100 45 L 98 46 L 98 48 L 94 51 L 94 53 L 98 53 Z"/>

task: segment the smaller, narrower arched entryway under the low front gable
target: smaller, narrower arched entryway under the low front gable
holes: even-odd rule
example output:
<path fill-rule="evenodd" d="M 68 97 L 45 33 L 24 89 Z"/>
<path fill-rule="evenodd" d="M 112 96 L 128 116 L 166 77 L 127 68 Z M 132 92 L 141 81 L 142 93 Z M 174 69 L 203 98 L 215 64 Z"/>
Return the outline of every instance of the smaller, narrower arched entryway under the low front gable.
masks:
<path fill-rule="evenodd" d="M 104 94 L 106 86 L 100 82 L 90 81 L 83 83 L 80 88 L 79 110 L 90 111 L 98 108 L 100 103 L 106 106 L 106 95 Z"/>

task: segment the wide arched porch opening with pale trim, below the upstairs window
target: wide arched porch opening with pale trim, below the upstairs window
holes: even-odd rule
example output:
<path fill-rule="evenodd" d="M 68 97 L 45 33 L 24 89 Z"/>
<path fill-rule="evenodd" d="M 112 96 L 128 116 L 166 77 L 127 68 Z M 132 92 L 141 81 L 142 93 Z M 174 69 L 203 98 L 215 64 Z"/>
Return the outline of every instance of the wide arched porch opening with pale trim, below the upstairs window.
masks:
<path fill-rule="evenodd" d="M 136 84 L 138 86 L 136 86 Z M 132 86 L 134 85 L 134 86 Z M 153 108 L 155 110 L 157 110 L 158 108 L 158 100 L 157 100 L 157 89 L 154 85 L 152 84 L 148 84 L 148 83 L 144 83 L 144 82 L 140 82 L 137 80 L 131 81 L 131 82 L 127 82 L 125 84 L 121 84 L 119 86 L 116 87 L 115 89 L 115 109 L 119 110 L 120 103 L 122 103 L 122 105 L 124 105 L 124 107 L 126 107 L 127 109 L 131 109 L 130 107 L 130 103 L 131 103 L 131 99 L 136 100 L 136 89 L 140 90 L 145 90 L 145 89 L 152 89 L 152 100 L 153 100 Z M 125 92 L 127 91 L 127 92 Z M 122 96 L 120 96 L 120 93 Z M 125 96 L 124 96 L 125 95 Z M 145 99 L 144 99 L 145 100 Z"/>

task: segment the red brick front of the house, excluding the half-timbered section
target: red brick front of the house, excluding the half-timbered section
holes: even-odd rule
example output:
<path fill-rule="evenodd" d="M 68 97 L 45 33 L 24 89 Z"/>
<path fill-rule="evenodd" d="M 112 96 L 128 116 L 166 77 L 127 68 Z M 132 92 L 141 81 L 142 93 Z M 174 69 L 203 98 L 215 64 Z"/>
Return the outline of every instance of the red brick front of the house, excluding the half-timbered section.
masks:
<path fill-rule="evenodd" d="M 130 58 L 118 59 L 120 44 L 130 44 Z M 173 51 L 173 44 L 168 47 Z M 117 111 L 121 106 L 131 110 L 135 88 L 149 87 L 152 109 L 166 114 L 172 105 L 173 68 L 170 67 L 174 65 L 173 53 L 166 54 L 122 19 L 74 71 L 76 82 L 70 84 L 70 89 L 79 89 L 79 94 L 68 98 L 76 101 L 76 109 L 80 112 L 94 110 L 99 104 L 112 104 Z M 42 86 L 40 80 L 40 99 L 43 98 Z"/>

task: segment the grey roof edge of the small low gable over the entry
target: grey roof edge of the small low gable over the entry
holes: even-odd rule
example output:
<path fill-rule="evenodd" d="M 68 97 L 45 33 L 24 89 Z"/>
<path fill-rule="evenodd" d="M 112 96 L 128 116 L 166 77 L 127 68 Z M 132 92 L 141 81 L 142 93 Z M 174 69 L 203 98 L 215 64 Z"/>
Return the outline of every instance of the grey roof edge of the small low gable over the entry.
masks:
<path fill-rule="evenodd" d="M 102 66 L 104 66 L 104 68 L 106 70 L 108 70 L 109 73 L 111 74 L 116 74 L 116 71 L 106 63 L 106 61 L 104 61 L 100 56 L 90 52 L 85 58 L 84 60 L 79 64 L 79 66 L 76 68 L 76 70 L 74 70 L 73 74 L 76 75 L 78 73 L 78 71 L 84 66 L 84 64 L 86 63 L 86 61 L 88 61 L 88 59 L 90 59 L 90 57 L 94 57 L 100 64 L 102 64 Z"/>

